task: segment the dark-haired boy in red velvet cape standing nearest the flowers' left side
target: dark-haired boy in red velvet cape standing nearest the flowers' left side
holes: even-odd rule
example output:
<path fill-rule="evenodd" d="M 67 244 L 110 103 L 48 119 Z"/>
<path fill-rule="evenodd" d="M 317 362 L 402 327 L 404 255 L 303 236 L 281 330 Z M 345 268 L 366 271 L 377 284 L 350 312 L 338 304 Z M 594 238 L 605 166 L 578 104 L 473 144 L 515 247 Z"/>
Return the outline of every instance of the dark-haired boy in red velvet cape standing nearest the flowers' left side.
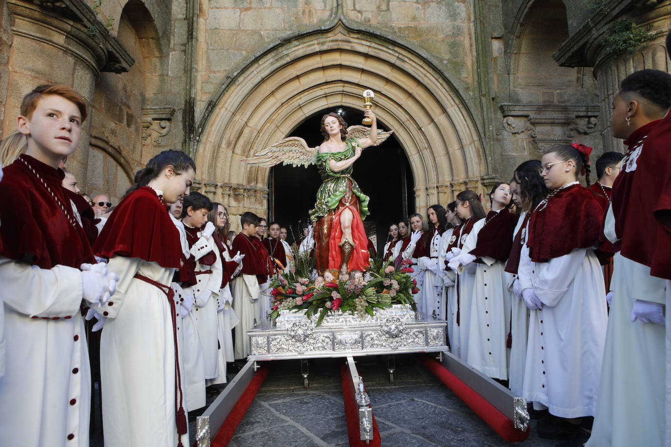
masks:
<path fill-rule="evenodd" d="M 260 218 L 253 212 L 240 216 L 242 231 L 233 240 L 233 253 L 245 255 L 240 273 L 233 279 L 233 308 L 240 318 L 236 326 L 235 357 L 246 359 L 250 353 L 247 330 L 260 323 L 262 314 L 260 300 L 270 300 L 268 291 L 268 254 L 263 243 L 256 237 Z"/>

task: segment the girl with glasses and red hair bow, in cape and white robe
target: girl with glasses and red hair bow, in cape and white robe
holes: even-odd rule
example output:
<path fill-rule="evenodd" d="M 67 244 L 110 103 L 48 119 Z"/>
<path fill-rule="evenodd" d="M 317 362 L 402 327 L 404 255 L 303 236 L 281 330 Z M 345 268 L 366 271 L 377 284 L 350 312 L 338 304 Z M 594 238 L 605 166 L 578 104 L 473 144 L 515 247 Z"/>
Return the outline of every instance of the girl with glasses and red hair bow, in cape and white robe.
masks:
<path fill-rule="evenodd" d="M 535 208 L 519 261 L 519 290 L 531 312 L 523 396 L 552 418 L 542 438 L 577 432 L 595 412 L 607 313 L 603 273 L 594 247 L 601 206 L 589 184 L 590 147 L 558 145 L 541 159 L 552 190 Z M 551 168 L 548 170 L 548 166 Z"/>

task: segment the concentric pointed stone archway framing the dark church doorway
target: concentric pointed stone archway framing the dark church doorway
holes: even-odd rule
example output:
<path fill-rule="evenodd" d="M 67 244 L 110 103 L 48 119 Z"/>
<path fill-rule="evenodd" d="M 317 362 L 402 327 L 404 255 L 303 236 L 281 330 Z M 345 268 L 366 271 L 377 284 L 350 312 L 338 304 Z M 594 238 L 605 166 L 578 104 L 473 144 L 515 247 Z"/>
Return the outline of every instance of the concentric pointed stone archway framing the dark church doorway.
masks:
<path fill-rule="evenodd" d="M 193 148 L 197 177 L 231 214 L 264 213 L 268 170 L 240 159 L 287 137 L 326 107 L 362 109 L 376 92 L 380 122 L 395 131 L 415 180 L 417 210 L 481 188 L 486 157 L 460 93 L 425 58 L 342 22 L 271 48 L 213 96 Z"/>

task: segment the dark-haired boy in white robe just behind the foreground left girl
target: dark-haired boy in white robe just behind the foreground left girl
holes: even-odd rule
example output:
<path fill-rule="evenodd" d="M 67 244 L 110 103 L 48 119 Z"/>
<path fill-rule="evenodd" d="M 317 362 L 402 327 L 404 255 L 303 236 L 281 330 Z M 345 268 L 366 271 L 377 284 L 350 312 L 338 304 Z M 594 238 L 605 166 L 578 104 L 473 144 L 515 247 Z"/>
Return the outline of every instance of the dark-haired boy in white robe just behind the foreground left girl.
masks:
<path fill-rule="evenodd" d="M 207 214 L 211 210 L 212 202 L 209 198 L 199 192 L 191 192 L 184 198 L 180 216 L 191 251 L 189 259 L 184 261 L 180 279 L 183 279 L 183 290 L 195 297 L 191 314 L 200 341 L 192 342 L 191 346 L 183 350 L 189 411 L 205 405 L 205 379 L 214 379 L 219 375 L 215 298 L 221 290 L 223 267 L 212 237 L 215 226 L 207 221 Z M 183 324 L 188 325 L 190 321 L 183 320 Z M 199 349 L 203 353 L 202 368 L 196 360 Z M 195 361 L 189 361 L 189 358 Z"/>

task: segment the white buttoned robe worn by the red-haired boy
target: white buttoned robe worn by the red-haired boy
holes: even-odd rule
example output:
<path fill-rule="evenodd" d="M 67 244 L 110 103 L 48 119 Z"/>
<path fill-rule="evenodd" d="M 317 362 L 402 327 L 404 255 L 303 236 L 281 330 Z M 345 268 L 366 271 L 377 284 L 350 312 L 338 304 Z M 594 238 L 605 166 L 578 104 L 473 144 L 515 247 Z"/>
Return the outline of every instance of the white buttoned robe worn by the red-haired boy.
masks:
<path fill-rule="evenodd" d="M 91 373 L 81 272 L 0 257 L 0 283 L 7 343 L 0 444 L 88 446 Z"/>

